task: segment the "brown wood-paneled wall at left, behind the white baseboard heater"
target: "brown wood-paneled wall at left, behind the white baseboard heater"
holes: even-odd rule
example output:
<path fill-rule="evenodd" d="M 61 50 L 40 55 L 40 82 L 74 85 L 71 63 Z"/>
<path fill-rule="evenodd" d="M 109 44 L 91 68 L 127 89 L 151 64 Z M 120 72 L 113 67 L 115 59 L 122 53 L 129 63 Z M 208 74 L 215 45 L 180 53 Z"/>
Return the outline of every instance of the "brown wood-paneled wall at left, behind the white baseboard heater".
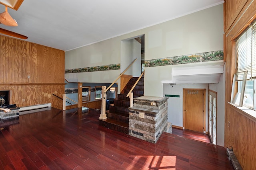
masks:
<path fill-rule="evenodd" d="M 62 109 L 64 51 L 0 35 L 0 90 L 18 107 L 52 103 Z"/>

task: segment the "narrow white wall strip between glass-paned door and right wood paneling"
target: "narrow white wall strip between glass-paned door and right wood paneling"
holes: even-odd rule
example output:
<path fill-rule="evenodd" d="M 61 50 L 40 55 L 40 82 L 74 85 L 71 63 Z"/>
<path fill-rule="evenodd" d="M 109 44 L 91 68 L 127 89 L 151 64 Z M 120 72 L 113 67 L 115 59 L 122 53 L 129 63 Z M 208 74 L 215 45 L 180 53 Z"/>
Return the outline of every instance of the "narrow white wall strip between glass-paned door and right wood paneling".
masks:
<path fill-rule="evenodd" d="M 224 146 L 225 127 L 225 67 L 218 84 L 209 84 L 209 90 L 217 92 L 217 145 Z"/>

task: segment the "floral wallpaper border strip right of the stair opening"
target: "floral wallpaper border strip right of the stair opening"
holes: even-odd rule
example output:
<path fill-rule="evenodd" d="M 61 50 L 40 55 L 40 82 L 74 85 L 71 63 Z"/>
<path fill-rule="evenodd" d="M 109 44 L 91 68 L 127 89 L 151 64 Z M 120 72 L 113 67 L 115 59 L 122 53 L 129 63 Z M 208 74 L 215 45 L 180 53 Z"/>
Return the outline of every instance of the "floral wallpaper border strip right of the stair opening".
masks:
<path fill-rule="evenodd" d="M 223 50 L 211 51 L 211 52 L 197 53 L 192 55 L 181 55 L 176 57 L 146 60 L 145 67 L 188 64 L 188 63 L 198 63 L 198 62 L 206 62 L 206 61 L 218 61 L 218 60 L 223 60 L 223 58 L 224 58 Z"/>

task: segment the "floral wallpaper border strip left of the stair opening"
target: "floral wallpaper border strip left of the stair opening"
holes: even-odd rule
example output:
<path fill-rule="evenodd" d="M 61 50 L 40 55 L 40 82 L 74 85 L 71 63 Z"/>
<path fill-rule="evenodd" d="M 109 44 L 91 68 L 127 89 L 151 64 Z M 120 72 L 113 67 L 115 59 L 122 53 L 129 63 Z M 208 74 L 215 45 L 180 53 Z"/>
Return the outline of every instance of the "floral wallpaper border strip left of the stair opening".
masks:
<path fill-rule="evenodd" d="M 67 69 L 65 70 L 65 73 L 93 72 L 93 71 L 106 71 L 106 70 L 119 70 L 119 69 L 120 69 L 120 64 L 109 64 L 109 65 L 103 65 L 103 66 Z"/>

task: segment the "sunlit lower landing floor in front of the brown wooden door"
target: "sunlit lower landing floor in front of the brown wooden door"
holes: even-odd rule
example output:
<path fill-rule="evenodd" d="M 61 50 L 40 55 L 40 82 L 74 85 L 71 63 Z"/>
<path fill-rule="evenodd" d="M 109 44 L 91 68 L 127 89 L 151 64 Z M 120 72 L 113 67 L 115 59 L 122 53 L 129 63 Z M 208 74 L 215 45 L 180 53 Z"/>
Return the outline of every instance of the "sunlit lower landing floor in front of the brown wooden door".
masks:
<path fill-rule="evenodd" d="M 172 134 L 179 135 L 181 137 L 186 137 L 188 139 L 194 139 L 197 141 L 212 143 L 209 135 L 200 133 L 200 132 L 190 131 L 190 130 L 186 130 L 186 129 L 178 129 L 178 128 L 172 127 Z"/>

